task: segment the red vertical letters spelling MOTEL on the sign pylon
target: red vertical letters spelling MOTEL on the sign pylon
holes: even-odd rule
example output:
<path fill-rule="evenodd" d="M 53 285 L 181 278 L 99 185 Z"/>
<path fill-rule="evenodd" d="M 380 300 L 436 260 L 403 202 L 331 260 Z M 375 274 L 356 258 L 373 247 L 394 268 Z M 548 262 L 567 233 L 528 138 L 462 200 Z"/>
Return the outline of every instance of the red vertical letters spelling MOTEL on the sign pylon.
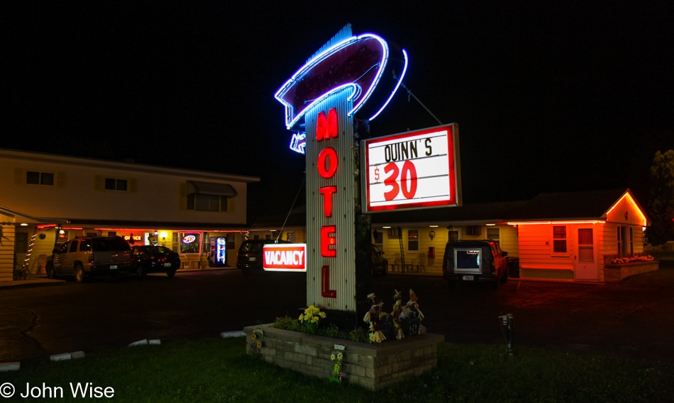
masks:
<path fill-rule="evenodd" d="M 328 110 L 326 117 L 324 112 L 320 112 L 318 122 L 316 123 L 316 141 L 329 140 L 337 137 L 337 109 L 332 108 Z M 319 175 L 329 179 L 332 178 L 337 171 L 337 152 L 331 147 L 326 147 L 321 150 L 316 168 L 319 170 Z M 332 195 L 337 193 L 336 186 L 326 186 L 319 189 L 323 195 L 323 214 L 325 217 L 332 217 Z M 331 245 L 337 244 L 337 239 L 331 234 L 336 234 L 337 227 L 335 225 L 326 225 L 321 227 L 321 256 L 336 257 L 337 250 L 330 249 Z M 324 265 L 321 268 L 321 295 L 324 298 L 336 298 L 337 291 L 330 289 L 330 266 Z"/>

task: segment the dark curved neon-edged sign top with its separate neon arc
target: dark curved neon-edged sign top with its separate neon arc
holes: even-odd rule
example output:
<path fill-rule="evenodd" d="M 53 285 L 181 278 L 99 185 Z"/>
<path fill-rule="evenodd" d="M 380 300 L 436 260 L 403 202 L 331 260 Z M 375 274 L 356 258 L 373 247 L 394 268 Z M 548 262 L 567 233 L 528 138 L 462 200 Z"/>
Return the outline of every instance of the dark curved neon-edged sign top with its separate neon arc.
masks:
<path fill-rule="evenodd" d="M 404 69 L 397 78 L 398 83 L 382 108 L 370 120 L 385 108 L 402 82 L 407 71 L 407 52 L 402 52 Z M 349 100 L 353 101 L 353 109 L 348 115 L 358 112 L 379 84 L 389 57 L 387 42 L 373 33 L 350 36 L 319 52 L 274 94 L 285 106 L 286 127 L 291 129 L 316 103 L 343 89 L 351 91 Z"/>

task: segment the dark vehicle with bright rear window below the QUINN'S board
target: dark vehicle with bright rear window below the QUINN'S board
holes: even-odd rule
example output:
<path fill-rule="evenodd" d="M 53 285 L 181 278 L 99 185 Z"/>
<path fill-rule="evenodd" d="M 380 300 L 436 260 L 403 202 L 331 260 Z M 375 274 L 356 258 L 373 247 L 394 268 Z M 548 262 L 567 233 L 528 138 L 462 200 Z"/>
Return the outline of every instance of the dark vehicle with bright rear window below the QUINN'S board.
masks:
<path fill-rule="evenodd" d="M 447 242 L 442 272 L 449 285 L 490 283 L 498 289 L 508 280 L 505 256 L 498 242 L 490 239 Z"/>

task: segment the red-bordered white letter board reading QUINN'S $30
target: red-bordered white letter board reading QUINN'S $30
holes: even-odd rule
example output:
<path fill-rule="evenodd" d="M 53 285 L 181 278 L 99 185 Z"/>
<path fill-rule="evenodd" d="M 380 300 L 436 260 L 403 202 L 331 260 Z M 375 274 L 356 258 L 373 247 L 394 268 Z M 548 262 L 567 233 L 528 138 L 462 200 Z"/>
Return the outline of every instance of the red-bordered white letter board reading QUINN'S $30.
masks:
<path fill-rule="evenodd" d="M 461 205 L 456 123 L 363 144 L 366 212 Z"/>

